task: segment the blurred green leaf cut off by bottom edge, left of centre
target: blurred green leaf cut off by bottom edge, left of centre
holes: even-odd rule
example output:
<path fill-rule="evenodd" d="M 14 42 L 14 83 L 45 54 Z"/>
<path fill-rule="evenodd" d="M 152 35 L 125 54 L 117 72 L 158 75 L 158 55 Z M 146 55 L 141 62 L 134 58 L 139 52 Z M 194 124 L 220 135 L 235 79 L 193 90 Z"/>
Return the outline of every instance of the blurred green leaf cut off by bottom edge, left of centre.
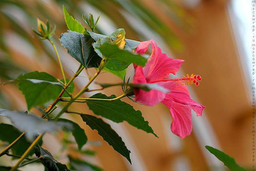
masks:
<path fill-rule="evenodd" d="M 70 161 L 70 165 L 71 165 L 71 169 L 74 170 L 79 170 L 79 171 L 90 171 L 90 170 L 94 170 L 94 171 L 102 171 L 103 169 L 93 165 L 87 161 L 83 161 L 80 159 L 74 159 L 71 156 L 68 156 L 69 161 Z"/>

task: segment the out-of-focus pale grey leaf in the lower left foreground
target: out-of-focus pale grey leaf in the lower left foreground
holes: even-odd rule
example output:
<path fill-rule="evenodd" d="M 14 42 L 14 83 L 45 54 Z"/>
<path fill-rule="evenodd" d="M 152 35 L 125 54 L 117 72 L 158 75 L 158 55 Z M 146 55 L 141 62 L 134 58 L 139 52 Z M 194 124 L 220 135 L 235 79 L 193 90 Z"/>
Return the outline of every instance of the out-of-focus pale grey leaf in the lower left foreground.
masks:
<path fill-rule="evenodd" d="M 0 111 L 1 110 L 3 111 L 3 109 L 0 109 Z M 9 117 L 13 125 L 19 130 L 25 132 L 25 135 L 30 140 L 39 133 L 52 132 L 56 129 L 62 129 L 63 127 L 68 130 L 72 129 L 71 124 L 65 122 L 46 121 L 37 115 L 31 115 L 25 112 L 5 111 L 1 116 Z"/>

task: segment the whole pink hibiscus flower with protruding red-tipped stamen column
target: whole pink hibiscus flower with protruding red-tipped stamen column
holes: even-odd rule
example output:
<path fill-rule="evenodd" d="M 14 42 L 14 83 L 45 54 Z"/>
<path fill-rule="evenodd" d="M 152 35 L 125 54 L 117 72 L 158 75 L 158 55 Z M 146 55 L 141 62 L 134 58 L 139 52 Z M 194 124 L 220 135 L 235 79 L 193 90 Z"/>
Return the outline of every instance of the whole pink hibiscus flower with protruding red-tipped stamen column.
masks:
<path fill-rule="evenodd" d="M 155 89 L 144 91 L 134 88 L 135 101 L 148 106 L 153 106 L 159 102 L 164 103 L 170 109 L 172 115 L 172 132 L 183 139 L 192 131 L 191 109 L 196 112 L 196 116 L 202 116 L 202 111 L 205 108 L 190 98 L 185 84 L 195 83 L 198 85 L 201 77 L 199 75 L 186 75 L 181 78 L 169 79 L 169 74 L 172 73 L 175 75 L 180 69 L 183 60 L 174 60 L 167 57 L 157 47 L 154 40 L 140 42 L 135 52 L 139 54 L 145 53 L 149 44 L 151 44 L 152 54 L 145 67 L 142 68 L 134 64 L 135 73 L 133 83 L 157 83 L 159 86 L 168 89 L 169 92 L 166 93 Z"/>

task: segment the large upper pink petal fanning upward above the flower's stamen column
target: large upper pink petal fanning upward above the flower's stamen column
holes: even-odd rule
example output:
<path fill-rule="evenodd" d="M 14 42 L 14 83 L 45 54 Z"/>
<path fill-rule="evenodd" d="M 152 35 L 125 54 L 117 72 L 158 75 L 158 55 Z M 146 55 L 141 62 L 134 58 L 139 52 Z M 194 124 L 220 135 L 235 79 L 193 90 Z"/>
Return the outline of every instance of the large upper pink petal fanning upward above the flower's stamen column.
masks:
<path fill-rule="evenodd" d="M 152 54 L 143 68 L 147 82 L 156 82 L 163 78 L 169 78 L 169 74 L 175 73 L 180 69 L 180 65 L 184 60 L 172 59 L 162 53 L 157 47 L 156 42 L 152 40 Z"/>

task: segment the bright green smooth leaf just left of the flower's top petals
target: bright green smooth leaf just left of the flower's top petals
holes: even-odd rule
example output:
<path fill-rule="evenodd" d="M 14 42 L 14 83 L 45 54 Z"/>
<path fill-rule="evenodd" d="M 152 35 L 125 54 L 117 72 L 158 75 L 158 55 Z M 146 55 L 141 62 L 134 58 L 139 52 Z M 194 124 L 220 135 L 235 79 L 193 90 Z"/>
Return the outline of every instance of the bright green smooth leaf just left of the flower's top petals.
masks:
<path fill-rule="evenodd" d="M 93 44 L 93 47 L 94 47 L 94 44 Z M 111 45 L 108 43 L 104 43 L 100 47 L 95 46 L 94 48 L 99 49 L 100 53 L 102 53 L 102 55 L 106 59 L 115 59 L 115 60 L 119 60 L 119 61 L 124 61 L 126 63 L 135 63 L 142 67 L 145 66 L 145 63 L 148 60 L 148 56 L 145 56 L 145 55 L 141 56 L 139 54 L 135 54 L 135 53 L 123 50 L 123 49 L 119 49 L 117 45 Z"/>

